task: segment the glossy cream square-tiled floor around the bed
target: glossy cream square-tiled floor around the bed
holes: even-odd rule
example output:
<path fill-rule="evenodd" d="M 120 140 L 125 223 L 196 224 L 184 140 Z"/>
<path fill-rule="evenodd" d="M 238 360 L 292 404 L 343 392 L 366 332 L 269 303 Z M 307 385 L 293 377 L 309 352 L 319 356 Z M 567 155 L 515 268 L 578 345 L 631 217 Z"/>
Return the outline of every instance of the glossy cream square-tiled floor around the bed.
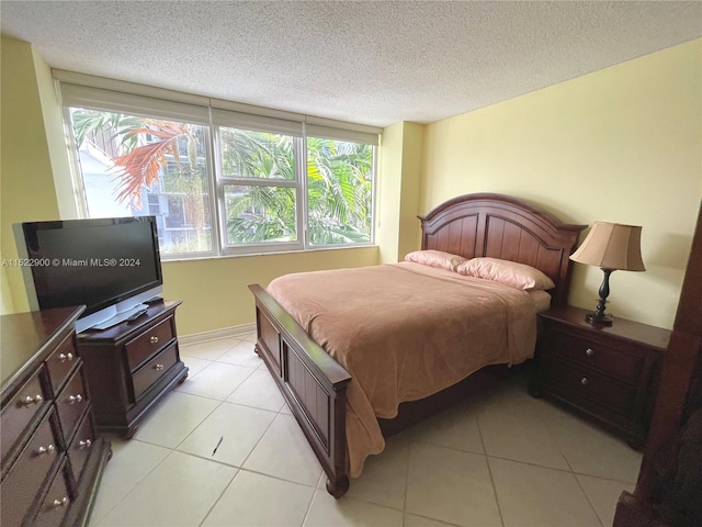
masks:
<path fill-rule="evenodd" d="M 639 453 L 518 375 L 390 438 L 336 501 L 253 340 L 181 346 L 190 377 L 112 438 L 91 526 L 610 526 L 636 481 Z"/>

